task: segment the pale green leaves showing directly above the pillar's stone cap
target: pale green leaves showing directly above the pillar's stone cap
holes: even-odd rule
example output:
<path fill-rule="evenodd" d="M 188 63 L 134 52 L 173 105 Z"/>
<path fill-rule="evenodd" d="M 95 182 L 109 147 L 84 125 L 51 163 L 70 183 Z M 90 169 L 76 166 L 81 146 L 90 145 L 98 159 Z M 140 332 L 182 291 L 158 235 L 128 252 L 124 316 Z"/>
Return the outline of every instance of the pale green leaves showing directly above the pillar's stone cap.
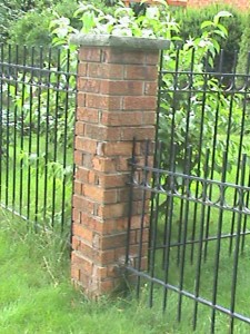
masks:
<path fill-rule="evenodd" d="M 172 32 L 179 30 L 167 7 L 149 7 L 143 14 L 137 16 L 132 8 L 121 4 L 113 14 L 107 14 L 92 4 L 80 3 L 74 16 L 81 21 L 80 32 L 83 33 L 170 39 Z M 59 39 L 68 38 L 69 33 L 76 32 L 66 18 L 54 20 L 52 27 L 56 27 L 53 32 Z"/>

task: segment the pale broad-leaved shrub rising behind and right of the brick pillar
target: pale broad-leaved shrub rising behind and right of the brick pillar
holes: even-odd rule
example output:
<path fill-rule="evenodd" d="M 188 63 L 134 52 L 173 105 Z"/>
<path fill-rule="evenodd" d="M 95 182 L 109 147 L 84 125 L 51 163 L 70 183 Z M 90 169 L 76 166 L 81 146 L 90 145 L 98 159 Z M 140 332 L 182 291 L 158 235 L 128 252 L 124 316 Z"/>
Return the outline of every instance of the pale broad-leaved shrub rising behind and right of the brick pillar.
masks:
<path fill-rule="evenodd" d="M 171 13 L 166 6 L 149 7 L 144 12 L 137 14 L 131 8 L 120 7 L 114 10 L 113 16 L 104 14 L 101 10 L 92 4 L 80 4 L 76 12 L 76 16 L 82 22 L 80 29 L 83 33 L 107 33 L 113 36 L 133 36 L 133 37 L 147 37 L 147 38 L 164 38 L 171 40 L 169 50 L 164 51 L 163 69 L 168 69 L 169 73 L 162 77 L 162 90 L 166 91 L 166 98 L 161 100 L 160 116 L 159 116 L 159 138 L 169 146 L 169 139 L 172 131 L 172 114 L 171 109 L 174 106 L 176 128 L 173 134 L 173 141 L 178 144 L 178 168 L 183 170 L 184 150 L 187 145 L 193 147 L 193 161 L 192 169 L 196 171 L 197 161 L 200 155 L 204 155 L 206 149 L 211 146 L 213 138 L 213 127 L 216 112 L 219 109 L 220 115 L 218 119 L 218 128 L 223 131 L 227 128 L 228 110 L 230 101 L 223 94 L 223 87 L 219 84 L 217 78 L 209 78 L 207 86 L 212 88 L 207 89 L 206 92 L 206 112 L 203 108 L 203 72 L 208 68 L 214 67 L 216 57 L 220 52 L 220 43 L 218 40 L 226 39 L 228 31 L 221 23 L 222 20 L 229 19 L 231 14 L 228 11 L 220 11 L 214 14 L 211 20 L 206 20 L 201 23 L 200 36 L 189 37 L 187 41 L 181 40 L 180 30 L 178 23 L 171 17 Z M 57 35 L 56 42 L 61 41 L 67 43 L 67 38 L 70 33 L 74 33 L 76 29 L 72 29 L 69 20 L 64 18 L 53 21 L 53 32 Z M 181 49 L 179 52 L 176 50 L 176 41 L 181 41 Z M 192 77 L 192 87 L 196 88 L 197 94 L 194 96 L 188 96 L 184 94 L 178 94 L 172 90 L 173 77 L 178 63 L 178 71 L 183 72 L 179 76 L 178 85 L 184 86 L 189 82 L 189 77 L 184 72 L 197 72 Z M 200 75 L 199 75 L 200 73 Z M 218 91 L 214 95 L 213 91 Z M 192 110 L 192 115 L 189 115 Z M 200 131 L 197 130 L 200 127 L 202 120 L 203 138 L 202 148 L 200 143 Z M 234 128 L 238 129 L 237 122 L 239 120 L 233 119 Z M 220 169 L 220 161 L 222 158 L 222 151 L 226 149 L 226 140 L 223 138 L 217 138 L 218 156 L 214 164 L 217 170 Z M 230 149 L 234 151 L 236 145 L 233 143 Z M 168 151 L 168 149 L 167 149 Z M 163 159 L 168 161 L 168 157 Z M 162 167 L 168 167 L 162 163 Z M 168 163 L 167 163 L 168 164 Z M 230 163 L 229 163 L 230 168 Z M 199 173 L 199 171 L 196 171 Z"/>

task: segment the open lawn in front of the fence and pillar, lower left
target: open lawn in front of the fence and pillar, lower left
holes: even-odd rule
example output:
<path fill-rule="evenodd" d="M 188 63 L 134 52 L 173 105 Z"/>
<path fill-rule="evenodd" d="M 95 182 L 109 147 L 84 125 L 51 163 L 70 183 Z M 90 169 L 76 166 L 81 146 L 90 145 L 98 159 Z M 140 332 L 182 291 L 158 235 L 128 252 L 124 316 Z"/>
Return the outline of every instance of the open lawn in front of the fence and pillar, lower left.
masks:
<path fill-rule="evenodd" d="M 161 312 L 134 299 L 87 299 L 72 287 L 69 265 L 66 239 L 49 229 L 27 232 L 1 213 L 0 333 L 176 333 Z"/>

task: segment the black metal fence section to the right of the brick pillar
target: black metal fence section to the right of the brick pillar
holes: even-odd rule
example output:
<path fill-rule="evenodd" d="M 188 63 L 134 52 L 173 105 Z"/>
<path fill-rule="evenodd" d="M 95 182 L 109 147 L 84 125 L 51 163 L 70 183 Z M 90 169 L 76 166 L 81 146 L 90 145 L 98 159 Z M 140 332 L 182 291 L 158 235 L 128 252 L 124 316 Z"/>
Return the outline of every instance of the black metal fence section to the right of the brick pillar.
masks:
<path fill-rule="evenodd" d="M 142 193 L 144 208 L 139 254 L 150 220 L 148 268 L 130 262 L 130 242 L 127 268 L 137 295 L 161 305 L 177 332 L 249 333 L 250 61 L 244 73 L 237 61 L 227 73 L 223 53 L 217 71 L 209 57 L 202 68 L 196 53 L 189 59 L 187 67 L 181 51 L 162 53 L 154 164 L 150 143 L 144 164 L 136 155 L 131 163 L 131 194 Z"/>

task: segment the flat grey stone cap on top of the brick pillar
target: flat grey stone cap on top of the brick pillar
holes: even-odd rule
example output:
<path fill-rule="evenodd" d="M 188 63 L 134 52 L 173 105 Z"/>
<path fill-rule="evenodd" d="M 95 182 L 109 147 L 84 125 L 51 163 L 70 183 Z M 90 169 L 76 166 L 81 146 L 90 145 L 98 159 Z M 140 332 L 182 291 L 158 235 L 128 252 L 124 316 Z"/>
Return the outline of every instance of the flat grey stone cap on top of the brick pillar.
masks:
<path fill-rule="evenodd" d="M 111 35 L 77 33 L 70 38 L 70 43 L 86 47 L 113 47 L 122 49 L 168 49 L 170 41 L 167 39 L 119 37 Z"/>

